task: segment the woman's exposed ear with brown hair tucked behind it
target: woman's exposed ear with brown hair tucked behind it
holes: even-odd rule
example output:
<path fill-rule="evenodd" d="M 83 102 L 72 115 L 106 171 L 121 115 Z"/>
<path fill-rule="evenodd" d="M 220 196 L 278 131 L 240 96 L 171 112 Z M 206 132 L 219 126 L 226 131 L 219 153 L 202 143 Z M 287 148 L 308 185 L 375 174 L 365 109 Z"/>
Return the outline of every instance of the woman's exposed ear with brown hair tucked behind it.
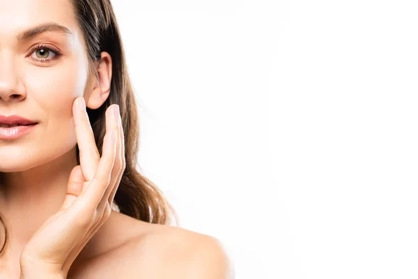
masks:
<path fill-rule="evenodd" d="M 98 75 L 92 74 L 84 94 L 86 107 L 91 110 L 98 109 L 109 98 L 111 84 L 111 56 L 102 52 L 101 58 L 95 63 Z"/>

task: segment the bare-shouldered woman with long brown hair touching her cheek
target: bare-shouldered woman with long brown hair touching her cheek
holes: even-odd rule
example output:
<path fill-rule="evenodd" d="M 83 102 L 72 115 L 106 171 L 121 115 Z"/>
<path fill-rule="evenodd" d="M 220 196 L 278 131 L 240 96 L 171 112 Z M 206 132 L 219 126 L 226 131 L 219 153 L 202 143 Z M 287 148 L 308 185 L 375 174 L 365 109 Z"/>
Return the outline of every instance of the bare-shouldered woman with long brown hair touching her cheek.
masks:
<path fill-rule="evenodd" d="M 0 0 L 0 278 L 228 276 L 217 239 L 169 225 L 138 137 L 109 0 Z"/>

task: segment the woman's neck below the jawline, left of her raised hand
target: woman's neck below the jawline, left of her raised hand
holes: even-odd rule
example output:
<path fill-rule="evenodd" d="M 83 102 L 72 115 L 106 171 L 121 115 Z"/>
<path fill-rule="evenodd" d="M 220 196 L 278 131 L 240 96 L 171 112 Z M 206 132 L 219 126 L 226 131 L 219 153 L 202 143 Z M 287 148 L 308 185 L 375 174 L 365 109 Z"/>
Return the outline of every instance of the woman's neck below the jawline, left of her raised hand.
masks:
<path fill-rule="evenodd" d="M 76 165 L 74 147 L 43 165 L 19 172 L 0 172 L 0 213 L 5 219 L 10 238 L 8 246 L 13 253 L 20 255 L 19 249 L 59 210 L 65 199 L 68 177 Z M 3 241 L 0 247 L 2 244 Z"/>

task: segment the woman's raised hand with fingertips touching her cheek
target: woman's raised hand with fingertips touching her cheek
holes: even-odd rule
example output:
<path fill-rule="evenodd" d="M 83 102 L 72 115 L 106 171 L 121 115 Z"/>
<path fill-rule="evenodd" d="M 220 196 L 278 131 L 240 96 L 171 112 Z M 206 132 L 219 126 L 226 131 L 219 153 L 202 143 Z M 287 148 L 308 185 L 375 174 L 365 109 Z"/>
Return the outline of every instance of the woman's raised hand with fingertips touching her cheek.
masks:
<path fill-rule="evenodd" d="M 80 104 L 77 100 L 81 100 Z M 22 272 L 42 269 L 67 276 L 79 252 L 109 218 L 125 169 L 123 128 L 115 108 L 118 106 L 111 105 L 106 111 L 106 135 L 100 158 L 84 98 L 77 98 L 73 103 L 80 165 L 70 173 L 67 194 L 59 211 L 24 246 L 20 257 Z"/>

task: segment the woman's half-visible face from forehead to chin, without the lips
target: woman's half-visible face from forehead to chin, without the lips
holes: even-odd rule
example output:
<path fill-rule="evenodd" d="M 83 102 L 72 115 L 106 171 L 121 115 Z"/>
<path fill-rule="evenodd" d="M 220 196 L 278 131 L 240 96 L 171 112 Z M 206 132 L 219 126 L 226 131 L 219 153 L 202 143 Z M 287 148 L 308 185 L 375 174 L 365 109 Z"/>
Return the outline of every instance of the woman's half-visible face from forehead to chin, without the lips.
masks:
<path fill-rule="evenodd" d="M 43 24 L 68 31 L 33 29 Z M 0 140 L 0 172 L 30 169 L 75 149 L 72 105 L 88 96 L 88 80 L 70 0 L 0 0 L 0 115 L 38 122 L 22 137 Z"/>

